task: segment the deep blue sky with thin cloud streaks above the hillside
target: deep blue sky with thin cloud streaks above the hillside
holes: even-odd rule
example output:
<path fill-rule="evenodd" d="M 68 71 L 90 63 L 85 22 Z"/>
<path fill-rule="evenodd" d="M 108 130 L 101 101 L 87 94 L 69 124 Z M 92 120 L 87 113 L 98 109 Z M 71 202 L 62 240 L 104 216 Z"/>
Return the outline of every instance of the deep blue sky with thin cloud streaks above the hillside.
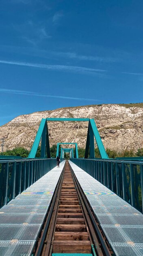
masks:
<path fill-rule="evenodd" d="M 137 102 L 142 0 L 0 1 L 0 125 L 35 111 Z"/>

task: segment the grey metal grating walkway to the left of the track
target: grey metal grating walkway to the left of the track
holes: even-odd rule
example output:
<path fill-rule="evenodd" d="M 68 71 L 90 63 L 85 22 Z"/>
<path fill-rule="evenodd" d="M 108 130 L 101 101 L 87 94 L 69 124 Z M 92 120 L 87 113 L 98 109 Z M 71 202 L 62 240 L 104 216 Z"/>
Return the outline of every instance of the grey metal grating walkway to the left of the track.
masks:
<path fill-rule="evenodd" d="M 30 256 L 64 164 L 0 209 L 0 256 Z"/>

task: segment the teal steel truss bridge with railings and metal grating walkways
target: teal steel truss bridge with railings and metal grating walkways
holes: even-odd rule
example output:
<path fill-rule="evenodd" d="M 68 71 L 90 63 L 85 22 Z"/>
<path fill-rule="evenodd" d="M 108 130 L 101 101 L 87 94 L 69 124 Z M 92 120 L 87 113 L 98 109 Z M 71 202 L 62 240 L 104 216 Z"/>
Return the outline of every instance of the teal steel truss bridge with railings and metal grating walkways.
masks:
<path fill-rule="evenodd" d="M 58 142 L 56 157 L 61 157 L 61 163 L 57 169 L 56 158 L 50 154 L 48 121 L 88 121 L 85 157 L 78 157 L 77 143 Z M 95 155 L 95 141 L 100 158 Z M 37 158 L 40 143 L 41 157 Z M 67 165 L 64 153 L 69 153 L 76 191 L 80 191 L 78 199 L 80 195 L 81 201 L 85 198 L 83 209 L 88 209 L 97 237 L 96 241 L 91 239 L 90 253 L 83 248 L 80 252 L 78 243 L 73 245 L 77 248 L 74 254 L 68 249 L 43 252 L 48 244 L 45 226 L 49 228 L 58 186 L 62 186 L 60 179 Z M 94 119 L 42 119 L 27 158 L 0 159 L 0 256 L 143 255 L 142 233 L 143 157 L 110 159 Z"/>

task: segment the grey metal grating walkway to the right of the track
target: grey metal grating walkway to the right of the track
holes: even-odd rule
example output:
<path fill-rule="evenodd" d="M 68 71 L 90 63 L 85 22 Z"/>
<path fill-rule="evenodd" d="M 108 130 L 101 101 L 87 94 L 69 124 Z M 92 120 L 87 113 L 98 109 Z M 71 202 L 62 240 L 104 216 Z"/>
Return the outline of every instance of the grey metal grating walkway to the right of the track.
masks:
<path fill-rule="evenodd" d="M 69 161 L 115 255 L 143 256 L 143 214 Z"/>

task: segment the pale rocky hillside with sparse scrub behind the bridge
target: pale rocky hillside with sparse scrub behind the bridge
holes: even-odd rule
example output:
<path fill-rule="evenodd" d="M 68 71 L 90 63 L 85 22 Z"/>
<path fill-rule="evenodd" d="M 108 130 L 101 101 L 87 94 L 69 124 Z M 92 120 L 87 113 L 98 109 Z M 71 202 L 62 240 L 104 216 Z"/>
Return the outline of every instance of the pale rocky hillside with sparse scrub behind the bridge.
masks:
<path fill-rule="evenodd" d="M 143 103 L 102 104 L 15 117 L 0 127 L 0 138 L 5 138 L 4 151 L 17 146 L 30 150 L 40 121 L 46 117 L 94 118 L 105 148 L 136 151 L 143 147 Z M 87 122 L 48 122 L 50 146 L 57 142 L 77 142 L 85 147 L 87 128 Z"/>

